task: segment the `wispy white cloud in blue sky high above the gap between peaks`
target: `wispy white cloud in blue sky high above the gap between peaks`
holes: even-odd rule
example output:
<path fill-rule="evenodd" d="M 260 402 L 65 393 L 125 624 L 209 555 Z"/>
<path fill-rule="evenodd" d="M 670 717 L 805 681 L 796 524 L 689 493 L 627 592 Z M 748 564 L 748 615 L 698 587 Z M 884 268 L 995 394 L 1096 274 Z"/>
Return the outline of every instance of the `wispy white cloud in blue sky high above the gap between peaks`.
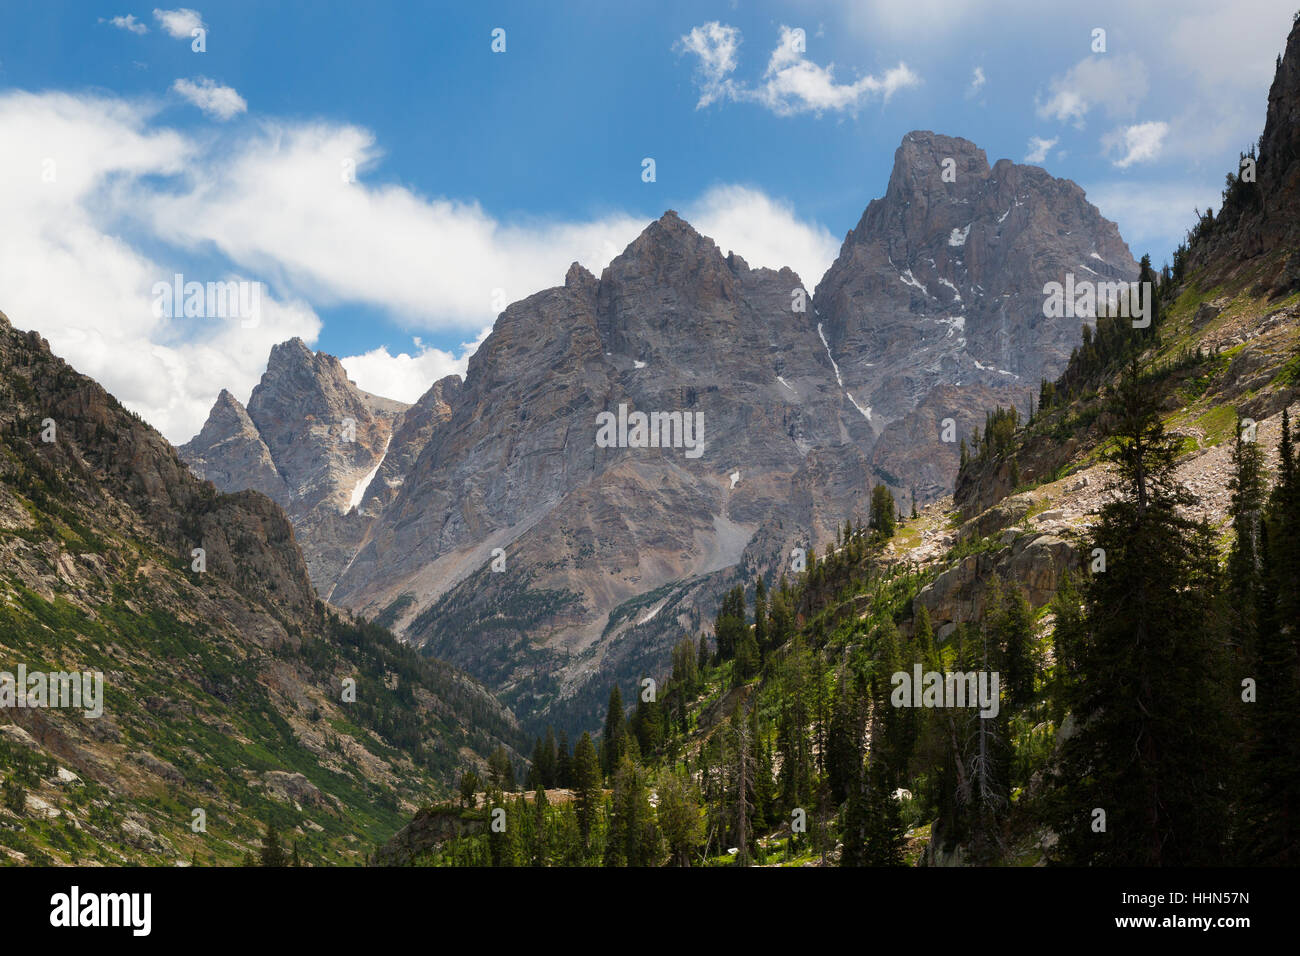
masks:
<path fill-rule="evenodd" d="M 731 99 L 760 103 L 777 116 L 853 112 L 871 99 L 888 103 L 900 90 L 920 83 L 920 77 L 901 61 L 880 77 L 864 75 L 852 83 L 837 83 L 835 64 L 819 66 L 809 60 L 803 31 L 783 25 L 762 82 L 748 87 L 731 78 L 740 42 L 740 30 L 716 21 L 696 27 L 679 40 L 681 48 L 699 60 L 697 108 Z"/>

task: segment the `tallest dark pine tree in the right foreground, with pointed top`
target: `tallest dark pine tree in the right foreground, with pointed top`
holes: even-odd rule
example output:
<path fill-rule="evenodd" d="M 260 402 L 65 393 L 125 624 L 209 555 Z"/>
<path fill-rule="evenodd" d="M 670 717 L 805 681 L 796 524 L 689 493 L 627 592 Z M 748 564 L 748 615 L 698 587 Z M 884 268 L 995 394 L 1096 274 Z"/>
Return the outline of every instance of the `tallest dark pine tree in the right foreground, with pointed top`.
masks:
<path fill-rule="evenodd" d="M 1213 537 L 1183 514 L 1179 440 L 1136 359 L 1109 418 L 1115 497 L 1092 532 L 1106 570 L 1087 581 L 1082 640 L 1063 648 L 1079 730 L 1061 749 L 1058 851 L 1075 865 L 1212 864 L 1228 810 Z"/>

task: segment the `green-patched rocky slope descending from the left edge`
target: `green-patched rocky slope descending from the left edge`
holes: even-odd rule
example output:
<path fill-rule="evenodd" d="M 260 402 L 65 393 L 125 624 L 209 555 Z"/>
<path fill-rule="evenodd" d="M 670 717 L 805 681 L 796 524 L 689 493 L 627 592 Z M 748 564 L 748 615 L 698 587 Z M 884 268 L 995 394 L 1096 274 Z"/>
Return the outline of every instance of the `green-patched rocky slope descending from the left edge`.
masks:
<path fill-rule="evenodd" d="M 292 457 L 273 467 L 285 444 L 229 395 L 217 412 L 231 467 L 270 492 L 309 484 Z M 23 671 L 98 674 L 98 705 L 18 706 Z M 328 609 L 272 499 L 196 479 L 3 315 L 0 700 L 10 861 L 234 862 L 269 822 L 308 860 L 358 860 L 459 771 L 520 748 L 480 684 Z"/>

